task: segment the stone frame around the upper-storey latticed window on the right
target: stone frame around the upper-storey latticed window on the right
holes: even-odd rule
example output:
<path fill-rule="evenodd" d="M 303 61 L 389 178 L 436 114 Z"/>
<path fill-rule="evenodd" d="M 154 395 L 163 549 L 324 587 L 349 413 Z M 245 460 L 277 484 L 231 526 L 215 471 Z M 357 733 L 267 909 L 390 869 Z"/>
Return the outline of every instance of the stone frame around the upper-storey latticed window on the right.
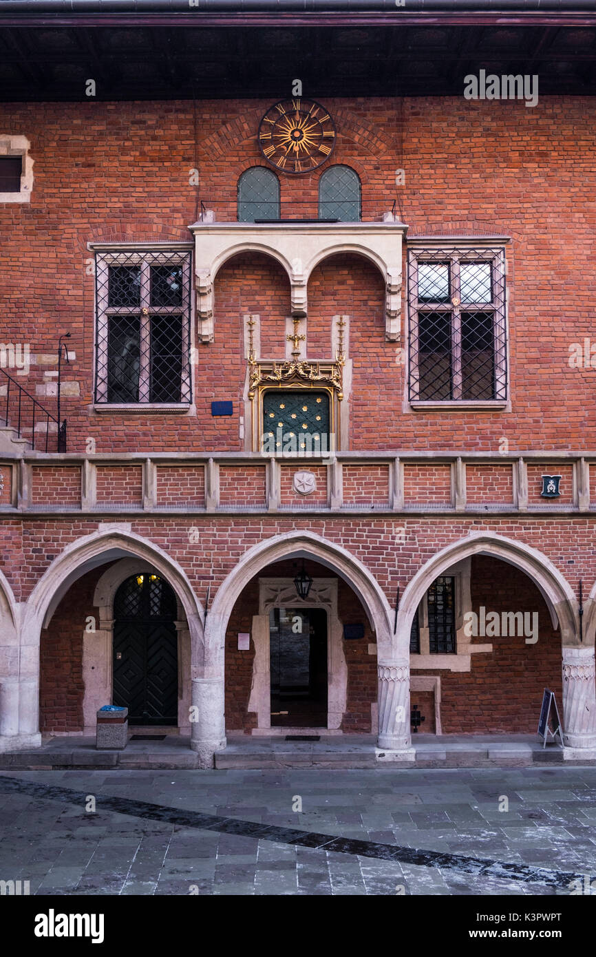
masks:
<path fill-rule="evenodd" d="M 482 412 L 482 411 L 491 411 L 491 412 L 511 412 L 511 386 L 510 386 L 510 363 L 509 363 L 509 293 L 507 286 L 507 256 L 506 256 L 506 246 L 511 241 L 510 236 L 506 235 L 493 235 L 493 236 L 415 236 L 410 238 L 407 243 L 407 277 L 408 277 L 408 294 L 406 297 L 407 300 L 407 335 L 406 335 L 406 369 L 407 374 L 405 376 L 404 388 L 405 388 L 405 400 L 404 400 L 404 412 L 462 412 L 463 410 L 470 410 L 472 412 Z M 497 301 L 494 311 L 495 315 L 498 318 L 500 331 L 503 336 L 503 344 L 501 347 L 500 355 L 500 369 L 497 370 L 496 364 L 496 385 L 497 391 L 500 389 L 501 394 L 498 398 L 493 399 L 418 399 L 412 395 L 410 375 L 412 370 L 412 363 L 415 364 L 415 359 L 412 356 L 411 342 L 412 337 L 415 334 L 418 323 L 418 309 L 419 302 L 416 295 L 417 287 L 417 265 L 419 261 L 425 260 L 425 255 L 427 257 L 437 257 L 440 256 L 445 260 L 450 260 L 450 264 L 457 260 L 457 271 L 458 263 L 461 259 L 465 259 L 466 256 L 471 256 L 472 259 L 487 259 L 491 260 L 494 263 L 497 263 L 497 268 L 494 267 L 494 275 L 497 277 L 496 285 L 498 287 L 498 292 L 500 296 L 500 301 Z M 502 269 L 498 268 L 498 260 L 502 262 Z M 450 267 L 450 280 L 452 277 L 452 269 Z M 413 301 L 415 300 L 415 301 Z M 480 303 L 477 303 L 480 305 Z M 447 306 L 446 306 L 447 308 Z M 452 306 L 452 312 L 459 314 L 461 312 L 461 303 L 458 300 L 456 305 Z M 479 311 L 479 310 L 478 310 Z M 453 323 L 453 320 L 452 320 Z M 458 341 L 459 339 L 459 328 L 460 321 L 457 321 L 457 335 L 454 336 L 454 340 Z M 452 346 L 452 355 L 453 355 L 453 346 Z"/>

